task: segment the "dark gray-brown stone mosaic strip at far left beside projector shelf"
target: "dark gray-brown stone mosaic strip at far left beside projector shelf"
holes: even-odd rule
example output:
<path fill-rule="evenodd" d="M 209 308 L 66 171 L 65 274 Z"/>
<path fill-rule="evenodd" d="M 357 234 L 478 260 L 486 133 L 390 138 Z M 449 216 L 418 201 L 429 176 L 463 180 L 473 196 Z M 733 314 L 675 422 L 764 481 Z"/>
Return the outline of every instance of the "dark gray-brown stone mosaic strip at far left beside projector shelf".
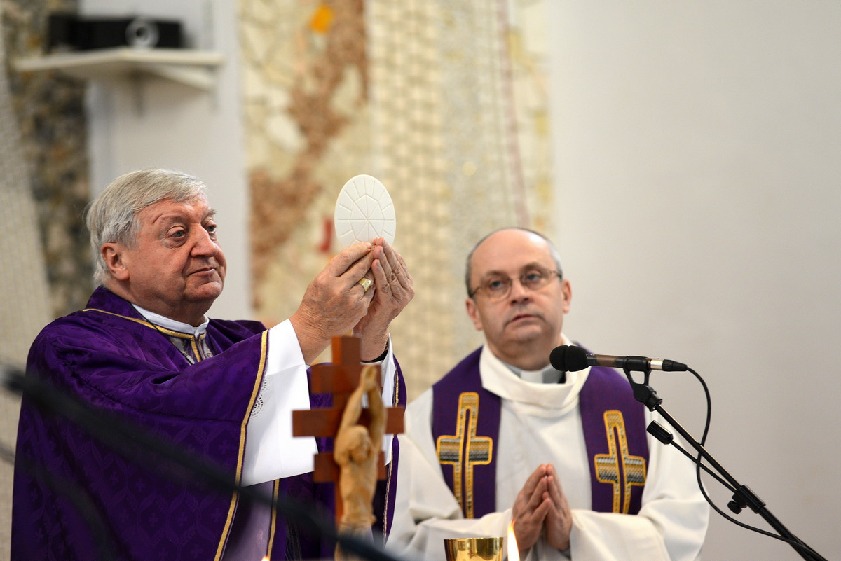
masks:
<path fill-rule="evenodd" d="M 45 51 L 46 18 L 72 12 L 75 0 L 5 0 L 3 39 L 8 59 Z M 83 307 L 92 265 L 82 223 L 88 201 L 85 84 L 55 72 L 9 71 L 29 184 L 44 241 L 50 308 L 56 317 Z"/>

